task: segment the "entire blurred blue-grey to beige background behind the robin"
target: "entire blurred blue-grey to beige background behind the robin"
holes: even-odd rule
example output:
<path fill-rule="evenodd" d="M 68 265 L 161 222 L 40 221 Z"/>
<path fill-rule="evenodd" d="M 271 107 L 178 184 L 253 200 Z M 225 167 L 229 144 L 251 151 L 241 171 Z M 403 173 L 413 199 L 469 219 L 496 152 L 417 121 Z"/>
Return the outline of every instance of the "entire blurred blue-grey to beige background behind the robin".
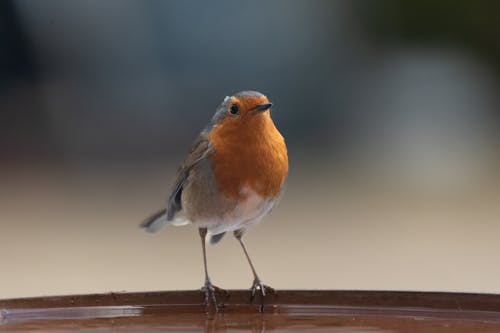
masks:
<path fill-rule="evenodd" d="M 0 2 L 0 298 L 195 289 L 198 233 L 138 224 L 216 106 L 290 157 L 246 236 L 275 288 L 500 292 L 500 2 Z M 247 288 L 231 237 L 215 284 Z"/>

